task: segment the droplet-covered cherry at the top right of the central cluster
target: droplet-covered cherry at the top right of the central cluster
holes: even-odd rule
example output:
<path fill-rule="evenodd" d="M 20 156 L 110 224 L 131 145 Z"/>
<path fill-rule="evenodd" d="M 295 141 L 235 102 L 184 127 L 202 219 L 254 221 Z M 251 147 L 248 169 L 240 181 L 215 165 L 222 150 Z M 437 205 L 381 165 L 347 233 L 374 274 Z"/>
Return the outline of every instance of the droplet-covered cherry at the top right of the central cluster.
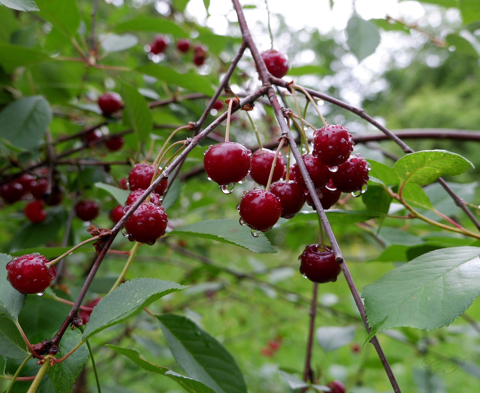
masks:
<path fill-rule="evenodd" d="M 336 167 L 347 161 L 353 152 L 352 134 L 348 128 L 326 125 L 313 132 L 314 157 L 318 157 L 327 167 Z"/>

